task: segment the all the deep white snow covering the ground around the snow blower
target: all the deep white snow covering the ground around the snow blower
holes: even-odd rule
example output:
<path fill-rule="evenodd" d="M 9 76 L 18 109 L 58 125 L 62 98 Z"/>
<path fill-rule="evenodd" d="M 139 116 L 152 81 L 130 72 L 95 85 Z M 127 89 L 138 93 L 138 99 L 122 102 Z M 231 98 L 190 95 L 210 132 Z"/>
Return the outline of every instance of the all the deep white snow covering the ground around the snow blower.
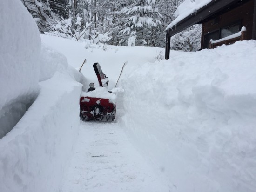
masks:
<path fill-rule="evenodd" d="M 0 192 L 256 191 L 256 41 L 171 51 L 171 59 L 158 61 L 160 48 L 39 36 L 19 0 L 0 1 L 0 16 L 5 15 L 10 22 L 0 20 L 2 122 L 11 121 L 3 117 L 12 116 L 7 109 L 18 98 L 36 98 L 0 139 Z M 13 34 L 13 22 L 20 33 Z M 74 69 L 85 58 L 86 82 Z M 99 62 L 112 89 L 125 61 L 115 122 L 80 123 L 79 82 L 84 90 L 90 82 L 97 85 L 92 65 Z M 105 159 L 94 161 L 101 155 Z"/>

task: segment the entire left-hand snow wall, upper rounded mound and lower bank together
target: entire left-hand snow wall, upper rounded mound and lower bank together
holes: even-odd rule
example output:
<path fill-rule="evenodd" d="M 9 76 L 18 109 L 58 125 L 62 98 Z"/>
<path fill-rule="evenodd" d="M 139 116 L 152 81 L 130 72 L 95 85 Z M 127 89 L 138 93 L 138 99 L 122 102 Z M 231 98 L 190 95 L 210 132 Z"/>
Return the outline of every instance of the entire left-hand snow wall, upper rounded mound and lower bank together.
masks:
<path fill-rule="evenodd" d="M 77 81 L 85 79 L 63 55 L 41 46 L 20 0 L 0 1 L 0 18 L 0 128 L 13 121 L 9 106 L 22 111 L 0 139 L 0 192 L 56 192 L 78 134 Z"/>

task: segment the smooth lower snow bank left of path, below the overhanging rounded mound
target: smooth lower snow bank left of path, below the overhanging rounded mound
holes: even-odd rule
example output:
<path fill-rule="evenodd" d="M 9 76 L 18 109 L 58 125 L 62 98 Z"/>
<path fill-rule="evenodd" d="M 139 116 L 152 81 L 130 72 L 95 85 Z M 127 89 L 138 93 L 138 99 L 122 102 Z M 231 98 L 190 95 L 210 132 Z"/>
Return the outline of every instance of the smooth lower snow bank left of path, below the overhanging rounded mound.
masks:
<path fill-rule="evenodd" d="M 56 192 L 77 137 L 81 85 L 56 73 L 0 139 L 1 192 Z"/>

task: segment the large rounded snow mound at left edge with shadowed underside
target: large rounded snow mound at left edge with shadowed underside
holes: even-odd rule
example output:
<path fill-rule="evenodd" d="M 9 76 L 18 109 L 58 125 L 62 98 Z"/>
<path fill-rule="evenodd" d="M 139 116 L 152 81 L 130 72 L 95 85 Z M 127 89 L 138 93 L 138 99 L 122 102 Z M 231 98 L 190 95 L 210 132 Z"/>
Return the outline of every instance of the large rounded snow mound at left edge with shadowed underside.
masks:
<path fill-rule="evenodd" d="M 1 0 L 0 18 L 1 138 L 36 97 L 41 40 L 34 20 L 20 0 Z"/>

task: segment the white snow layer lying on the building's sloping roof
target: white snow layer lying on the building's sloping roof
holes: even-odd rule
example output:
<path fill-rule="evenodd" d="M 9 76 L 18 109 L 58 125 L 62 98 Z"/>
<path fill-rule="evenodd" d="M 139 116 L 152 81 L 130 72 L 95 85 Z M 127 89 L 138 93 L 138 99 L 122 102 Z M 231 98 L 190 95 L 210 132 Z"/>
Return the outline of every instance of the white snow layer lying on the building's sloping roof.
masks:
<path fill-rule="evenodd" d="M 192 13 L 195 13 L 200 8 L 206 6 L 211 1 L 217 1 L 217 0 L 195 0 L 194 2 L 191 2 L 191 0 L 185 0 L 175 11 L 175 17 L 176 19 L 173 20 L 166 28 L 172 29 L 173 26 L 177 25 L 178 22 L 185 19 Z"/>

